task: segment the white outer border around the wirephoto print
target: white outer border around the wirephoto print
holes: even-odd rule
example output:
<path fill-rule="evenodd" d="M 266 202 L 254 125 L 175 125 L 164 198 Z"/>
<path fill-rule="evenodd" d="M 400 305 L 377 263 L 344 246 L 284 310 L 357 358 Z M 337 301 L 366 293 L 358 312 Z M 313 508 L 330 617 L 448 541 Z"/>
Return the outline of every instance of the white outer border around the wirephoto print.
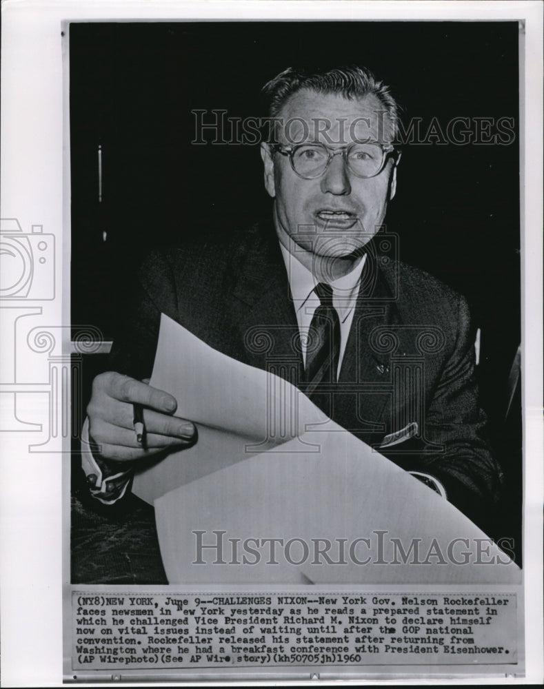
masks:
<path fill-rule="evenodd" d="M 542 150 L 543 7 L 540 2 L 290 2 L 214 1 L 206 3 L 158 1 L 4 0 L 2 3 L 1 61 L 1 217 L 17 218 L 25 234 L 41 225 L 53 235 L 54 296 L 30 301 L 33 313 L 59 328 L 59 344 L 70 340 L 63 314 L 70 313 L 68 284 L 70 220 L 63 198 L 69 189 L 69 170 L 63 167 L 63 55 L 61 21 L 139 19 L 381 19 L 525 21 L 521 55 L 521 168 L 522 207 L 522 329 L 523 442 L 528 457 L 524 492 L 524 575 L 526 620 L 526 677 L 514 683 L 543 680 L 542 597 Z M 29 134 L 31 132 L 31 135 Z M 530 172 L 530 174 L 528 174 Z M 67 187 L 68 185 L 68 187 Z M 36 229 L 35 232 L 39 232 Z M 68 262 L 68 263 L 67 263 Z M 43 280 L 50 280 L 43 274 Z M 44 289 L 50 285 L 44 284 Z M 37 311 L 41 309 L 41 311 Z M 13 312 L 14 313 L 14 312 Z M 10 316 L 13 316 L 10 313 Z M 18 313 L 24 315 L 23 313 Z M 5 316 L 5 313 L 2 314 Z M 3 352 L 17 347 L 11 321 L 2 322 Z M 49 326 L 48 326 L 49 327 Z M 10 361 L 3 358 L 0 380 L 8 380 Z M 29 366 L 32 376 L 43 378 Z M 18 398 L 25 418 L 36 426 L 48 418 L 47 395 L 30 387 Z M 6 413 L 3 407 L 0 413 Z M 15 414 L 17 416 L 17 413 Z M 3 426 L 2 426 L 3 427 Z M 4 686 L 55 686 L 62 681 L 63 480 L 62 442 L 57 453 L 28 452 L 36 429 L 0 434 L 1 510 L 1 646 Z M 41 438 L 41 436 L 39 436 Z M 30 440 L 29 440 L 30 438 Z M 527 547 L 527 544 L 531 547 Z M 399 680 L 396 680 L 398 683 Z M 460 680 L 456 679 L 456 683 Z M 482 677 L 470 683 L 503 683 Z M 390 683 L 386 681 L 384 683 Z M 463 683 L 463 680 L 461 680 Z M 94 684 L 93 684 L 94 686 Z"/>

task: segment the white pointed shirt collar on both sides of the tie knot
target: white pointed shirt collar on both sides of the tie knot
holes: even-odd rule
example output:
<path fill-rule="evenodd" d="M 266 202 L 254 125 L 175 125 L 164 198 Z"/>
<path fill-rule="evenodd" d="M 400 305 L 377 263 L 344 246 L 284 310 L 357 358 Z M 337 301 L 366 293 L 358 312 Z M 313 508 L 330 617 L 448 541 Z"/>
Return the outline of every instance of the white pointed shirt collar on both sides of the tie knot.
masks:
<path fill-rule="evenodd" d="M 296 311 L 299 311 L 308 299 L 317 299 L 317 295 L 314 292 L 317 280 L 314 278 L 312 271 L 308 270 L 296 256 L 290 254 L 290 251 L 285 249 L 281 242 L 280 249 L 287 269 L 294 308 Z M 352 271 L 329 283 L 332 287 L 333 304 L 336 310 L 339 311 L 341 320 L 345 320 L 355 306 L 365 262 L 366 254 Z"/>

